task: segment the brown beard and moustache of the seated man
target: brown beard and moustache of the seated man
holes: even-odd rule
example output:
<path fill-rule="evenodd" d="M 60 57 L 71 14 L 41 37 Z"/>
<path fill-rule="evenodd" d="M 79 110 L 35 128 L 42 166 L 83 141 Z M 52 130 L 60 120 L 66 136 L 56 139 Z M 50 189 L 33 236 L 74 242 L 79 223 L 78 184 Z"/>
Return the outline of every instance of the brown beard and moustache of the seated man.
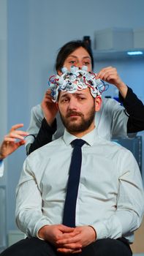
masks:
<path fill-rule="evenodd" d="M 71 118 L 71 121 L 69 121 L 69 116 L 71 115 L 76 115 L 81 117 L 81 121 L 77 124 L 77 118 L 73 117 L 73 120 Z M 94 121 L 94 116 L 95 116 L 95 109 L 92 108 L 91 111 L 88 113 L 88 118 L 84 118 L 83 113 L 70 110 L 69 113 L 67 113 L 67 116 L 64 117 L 61 115 L 61 121 L 64 124 L 64 127 L 66 127 L 68 132 L 85 132 L 92 122 Z M 75 122 L 76 121 L 76 122 Z"/>

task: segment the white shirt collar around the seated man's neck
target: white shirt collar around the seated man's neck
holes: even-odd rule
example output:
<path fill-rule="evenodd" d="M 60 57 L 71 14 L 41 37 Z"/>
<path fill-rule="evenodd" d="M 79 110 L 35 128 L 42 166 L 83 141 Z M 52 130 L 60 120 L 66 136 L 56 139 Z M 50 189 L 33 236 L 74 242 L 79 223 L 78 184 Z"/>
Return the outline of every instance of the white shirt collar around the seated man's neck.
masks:
<path fill-rule="evenodd" d="M 88 132 L 86 135 L 84 135 L 80 139 L 85 140 L 89 146 L 92 146 L 96 140 L 96 137 L 98 137 L 98 135 L 97 135 L 97 129 L 95 127 L 91 132 Z M 72 142 L 72 140 L 77 139 L 77 137 L 75 135 L 72 135 L 69 132 L 67 132 L 67 129 L 64 129 L 63 139 L 64 139 L 64 142 L 66 143 L 66 145 L 69 146 L 69 144 Z"/>

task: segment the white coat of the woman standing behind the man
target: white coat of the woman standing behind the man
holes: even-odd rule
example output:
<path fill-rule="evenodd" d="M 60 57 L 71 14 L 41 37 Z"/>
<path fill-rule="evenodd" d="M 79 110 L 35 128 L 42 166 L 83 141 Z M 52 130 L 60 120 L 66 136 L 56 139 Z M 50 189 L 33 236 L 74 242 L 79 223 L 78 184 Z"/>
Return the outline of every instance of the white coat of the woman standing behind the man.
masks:
<path fill-rule="evenodd" d="M 37 105 L 31 109 L 31 121 L 29 124 L 29 136 L 26 137 L 26 146 L 34 142 L 34 136 L 37 137 L 42 124 L 44 114 L 41 105 Z M 64 125 L 62 124 L 59 113 L 56 116 L 57 130 L 53 135 L 56 140 L 64 134 Z M 115 99 L 102 99 L 102 106 L 99 112 L 96 112 L 95 125 L 98 135 L 102 138 L 110 140 L 112 138 L 121 138 L 127 136 L 127 121 L 125 109 L 115 101 Z M 34 135 L 34 136 L 33 136 Z"/>

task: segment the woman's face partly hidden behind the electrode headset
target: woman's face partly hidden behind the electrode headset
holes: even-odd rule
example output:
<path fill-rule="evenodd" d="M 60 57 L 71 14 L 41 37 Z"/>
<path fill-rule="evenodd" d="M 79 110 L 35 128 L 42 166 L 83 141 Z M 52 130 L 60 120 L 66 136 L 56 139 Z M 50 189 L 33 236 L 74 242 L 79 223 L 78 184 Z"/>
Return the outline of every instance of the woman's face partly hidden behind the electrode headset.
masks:
<path fill-rule="evenodd" d="M 85 48 L 77 48 L 72 53 L 70 53 L 69 56 L 67 56 L 67 59 L 65 59 L 64 61 L 64 67 L 67 67 L 67 69 L 69 70 L 71 66 L 76 66 L 80 69 L 83 66 L 87 66 L 88 72 L 92 71 L 91 56 L 89 56 Z"/>

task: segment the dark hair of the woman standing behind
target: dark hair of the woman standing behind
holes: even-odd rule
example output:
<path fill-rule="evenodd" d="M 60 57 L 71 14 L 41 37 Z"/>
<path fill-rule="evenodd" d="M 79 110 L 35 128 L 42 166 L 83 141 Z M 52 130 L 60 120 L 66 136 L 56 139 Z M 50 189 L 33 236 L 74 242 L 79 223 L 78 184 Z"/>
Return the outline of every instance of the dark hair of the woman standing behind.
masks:
<path fill-rule="evenodd" d="M 91 66 L 92 69 L 94 69 L 94 57 L 91 50 L 91 47 L 88 45 L 88 43 L 83 42 L 82 40 L 75 40 L 67 42 L 64 46 L 61 47 L 61 49 L 58 52 L 58 56 L 56 58 L 56 64 L 55 68 L 56 71 L 61 70 L 61 68 L 64 65 L 64 61 L 67 59 L 69 54 L 71 54 L 74 50 L 77 50 L 77 48 L 83 47 L 91 57 Z"/>

